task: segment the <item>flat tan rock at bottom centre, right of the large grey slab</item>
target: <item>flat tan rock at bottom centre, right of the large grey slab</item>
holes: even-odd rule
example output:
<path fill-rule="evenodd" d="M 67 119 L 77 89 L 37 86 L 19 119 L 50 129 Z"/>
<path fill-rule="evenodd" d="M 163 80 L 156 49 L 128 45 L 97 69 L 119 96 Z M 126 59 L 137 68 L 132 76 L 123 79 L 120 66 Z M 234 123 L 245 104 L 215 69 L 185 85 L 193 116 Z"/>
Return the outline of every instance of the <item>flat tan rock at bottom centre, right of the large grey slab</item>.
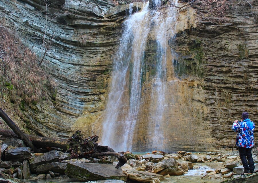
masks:
<path fill-rule="evenodd" d="M 157 178 L 159 180 L 164 180 L 164 176 L 159 174 L 154 174 L 150 172 L 142 172 L 137 170 L 132 170 L 128 173 L 128 178 L 136 182 L 152 182 L 153 179 Z"/>

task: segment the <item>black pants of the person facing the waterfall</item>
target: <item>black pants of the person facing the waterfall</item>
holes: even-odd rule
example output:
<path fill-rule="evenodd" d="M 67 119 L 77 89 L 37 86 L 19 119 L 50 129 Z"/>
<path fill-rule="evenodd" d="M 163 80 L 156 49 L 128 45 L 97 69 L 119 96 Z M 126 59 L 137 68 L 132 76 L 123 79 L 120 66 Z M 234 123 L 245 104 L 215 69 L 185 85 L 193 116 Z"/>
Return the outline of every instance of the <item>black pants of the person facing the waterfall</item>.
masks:
<path fill-rule="evenodd" d="M 253 157 L 252 157 L 252 148 L 239 147 L 239 156 L 241 158 L 241 161 L 243 163 L 243 167 L 245 169 L 247 169 L 247 170 L 248 169 L 249 170 L 254 170 L 255 169 L 255 166 L 254 166 L 254 163 L 253 163 Z M 247 157 L 247 160 L 249 162 L 249 166 L 248 166 L 246 157 Z"/>

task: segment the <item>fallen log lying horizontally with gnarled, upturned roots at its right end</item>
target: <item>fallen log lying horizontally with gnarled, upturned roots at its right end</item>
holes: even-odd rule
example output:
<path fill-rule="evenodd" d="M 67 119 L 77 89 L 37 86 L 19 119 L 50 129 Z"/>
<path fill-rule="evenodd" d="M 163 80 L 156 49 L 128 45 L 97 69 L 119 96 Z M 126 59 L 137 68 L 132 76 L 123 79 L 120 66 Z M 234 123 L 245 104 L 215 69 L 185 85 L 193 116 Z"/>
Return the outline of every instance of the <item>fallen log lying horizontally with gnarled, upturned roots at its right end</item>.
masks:
<path fill-rule="evenodd" d="M 50 137 L 39 137 L 35 135 L 26 136 L 31 142 L 38 148 L 55 147 L 62 150 L 68 151 L 71 154 L 71 158 L 95 158 L 100 156 L 115 156 L 119 162 L 116 168 L 123 166 L 127 159 L 124 155 L 114 152 L 114 150 L 108 146 L 98 145 L 97 135 L 93 135 L 86 139 L 83 139 L 80 134 L 81 131 L 76 131 L 69 139 L 63 138 L 50 138 Z M 11 138 L 19 138 L 12 130 L 0 129 L 0 135 Z"/>

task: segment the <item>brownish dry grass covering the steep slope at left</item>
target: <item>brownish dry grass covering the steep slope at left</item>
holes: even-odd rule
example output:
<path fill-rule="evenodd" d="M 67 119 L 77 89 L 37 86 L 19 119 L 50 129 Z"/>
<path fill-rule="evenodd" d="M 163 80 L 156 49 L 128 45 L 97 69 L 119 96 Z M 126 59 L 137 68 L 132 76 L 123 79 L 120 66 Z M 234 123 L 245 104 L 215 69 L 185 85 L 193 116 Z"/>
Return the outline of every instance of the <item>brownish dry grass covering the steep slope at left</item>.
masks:
<path fill-rule="evenodd" d="M 39 58 L 14 32 L 0 25 L 0 97 L 6 95 L 21 109 L 54 91 L 55 82 L 38 66 Z"/>

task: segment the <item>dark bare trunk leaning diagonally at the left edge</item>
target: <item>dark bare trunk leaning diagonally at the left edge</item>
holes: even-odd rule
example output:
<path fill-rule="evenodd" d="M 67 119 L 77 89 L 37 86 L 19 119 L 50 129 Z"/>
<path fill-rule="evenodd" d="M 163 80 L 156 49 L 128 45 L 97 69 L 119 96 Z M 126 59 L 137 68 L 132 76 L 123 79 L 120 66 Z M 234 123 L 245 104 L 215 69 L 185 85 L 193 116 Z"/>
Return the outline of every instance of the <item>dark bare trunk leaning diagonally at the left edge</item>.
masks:
<path fill-rule="evenodd" d="M 9 116 L 0 108 L 0 117 L 5 121 L 5 123 L 14 131 L 14 133 L 23 139 L 26 144 L 32 149 L 32 151 L 36 151 L 36 147 L 32 144 L 30 139 L 15 125 L 15 123 L 9 118 Z"/>

